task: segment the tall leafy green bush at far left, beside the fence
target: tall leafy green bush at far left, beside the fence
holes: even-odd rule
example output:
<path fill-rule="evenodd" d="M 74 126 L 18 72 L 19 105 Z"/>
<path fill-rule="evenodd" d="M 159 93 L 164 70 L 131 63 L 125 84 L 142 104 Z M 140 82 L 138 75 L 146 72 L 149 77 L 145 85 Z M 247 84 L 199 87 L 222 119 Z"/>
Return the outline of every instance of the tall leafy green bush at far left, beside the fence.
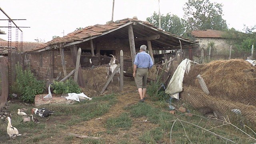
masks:
<path fill-rule="evenodd" d="M 42 80 L 37 80 L 30 70 L 22 70 L 18 63 L 16 68 L 16 91 L 21 95 L 24 102 L 32 103 L 36 94 L 42 94 L 45 90 L 45 84 Z"/>

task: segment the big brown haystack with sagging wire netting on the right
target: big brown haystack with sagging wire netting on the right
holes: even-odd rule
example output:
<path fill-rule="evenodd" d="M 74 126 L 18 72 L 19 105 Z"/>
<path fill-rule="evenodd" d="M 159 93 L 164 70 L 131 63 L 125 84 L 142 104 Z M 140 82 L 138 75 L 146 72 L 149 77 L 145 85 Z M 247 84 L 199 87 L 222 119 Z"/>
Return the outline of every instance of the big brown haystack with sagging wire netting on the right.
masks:
<path fill-rule="evenodd" d="M 204 79 L 210 94 L 202 91 L 196 76 Z M 241 111 L 256 124 L 256 68 L 244 60 L 217 60 L 193 66 L 184 76 L 181 98 L 207 114 Z"/>

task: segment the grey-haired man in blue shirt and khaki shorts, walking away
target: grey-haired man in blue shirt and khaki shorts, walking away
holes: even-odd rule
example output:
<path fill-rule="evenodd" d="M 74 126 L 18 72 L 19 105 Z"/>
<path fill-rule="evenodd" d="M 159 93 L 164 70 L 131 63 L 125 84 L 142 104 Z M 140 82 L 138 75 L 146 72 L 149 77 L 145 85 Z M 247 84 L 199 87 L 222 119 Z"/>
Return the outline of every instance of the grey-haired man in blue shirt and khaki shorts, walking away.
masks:
<path fill-rule="evenodd" d="M 140 46 L 140 52 L 136 55 L 134 60 L 133 77 L 135 77 L 138 92 L 140 94 L 140 101 L 144 102 L 147 90 L 148 68 L 152 68 L 153 61 L 146 51 L 147 46 Z"/>

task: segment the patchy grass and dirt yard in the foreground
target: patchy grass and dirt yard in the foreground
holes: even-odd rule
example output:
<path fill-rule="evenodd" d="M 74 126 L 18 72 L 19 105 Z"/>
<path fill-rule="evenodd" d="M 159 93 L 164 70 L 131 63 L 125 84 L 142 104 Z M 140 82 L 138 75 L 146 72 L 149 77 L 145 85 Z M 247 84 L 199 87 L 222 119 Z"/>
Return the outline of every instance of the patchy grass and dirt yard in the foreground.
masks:
<path fill-rule="evenodd" d="M 182 102 L 175 104 L 182 106 Z M 24 135 L 9 141 L 10 138 L 6 133 L 7 120 L 1 120 L 0 143 L 2 144 L 170 144 L 171 129 L 173 144 L 231 143 L 179 120 L 196 124 L 207 130 L 211 129 L 211 132 L 238 144 L 256 142 L 233 126 L 228 124 L 221 126 L 222 122 L 204 118 L 190 106 L 184 107 L 199 116 L 180 115 L 183 113 L 178 111 L 172 115 L 169 113 L 168 104 L 164 102 L 147 99 L 146 102 L 139 103 L 136 91 L 98 96 L 91 101 L 86 100 L 73 105 L 42 106 L 54 110 L 55 114 L 50 116 L 49 120 L 38 118 L 39 124 L 33 122 L 23 124 L 22 117 L 17 115 L 18 108 L 26 107 L 29 109 L 27 113 L 30 113 L 32 106 L 25 106 L 22 102 L 12 102 L 9 105 L 12 125 Z M 76 138 L 69 133 L 101 139 Z M 256 137 L 255 134 L 252 136 Z"/>

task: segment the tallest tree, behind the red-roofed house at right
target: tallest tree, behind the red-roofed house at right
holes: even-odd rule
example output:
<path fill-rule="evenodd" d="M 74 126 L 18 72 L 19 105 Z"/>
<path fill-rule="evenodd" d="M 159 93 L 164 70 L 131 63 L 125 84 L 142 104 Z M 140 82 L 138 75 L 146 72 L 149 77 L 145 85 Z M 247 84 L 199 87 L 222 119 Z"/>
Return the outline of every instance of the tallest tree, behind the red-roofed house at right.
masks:
<path fill-rule="evenodd" d="M 222 6 L 209 0 L 188 0 L 183 8 L 186 32 L 227 28 L 226 20 L 222 18 Z"/>

